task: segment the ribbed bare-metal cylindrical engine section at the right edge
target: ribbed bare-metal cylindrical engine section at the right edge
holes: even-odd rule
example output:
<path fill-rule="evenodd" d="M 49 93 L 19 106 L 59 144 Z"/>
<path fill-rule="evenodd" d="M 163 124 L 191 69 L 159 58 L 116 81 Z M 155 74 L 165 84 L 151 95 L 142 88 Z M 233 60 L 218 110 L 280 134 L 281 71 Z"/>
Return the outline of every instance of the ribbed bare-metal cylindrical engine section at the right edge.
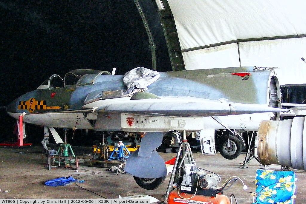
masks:
<path fill-rule="evenodd" d="M 283 121 L 262 121 L 258 130 L 260 163 L 280 164 L 306 170 L 305 122 L 305 117 Z"/>

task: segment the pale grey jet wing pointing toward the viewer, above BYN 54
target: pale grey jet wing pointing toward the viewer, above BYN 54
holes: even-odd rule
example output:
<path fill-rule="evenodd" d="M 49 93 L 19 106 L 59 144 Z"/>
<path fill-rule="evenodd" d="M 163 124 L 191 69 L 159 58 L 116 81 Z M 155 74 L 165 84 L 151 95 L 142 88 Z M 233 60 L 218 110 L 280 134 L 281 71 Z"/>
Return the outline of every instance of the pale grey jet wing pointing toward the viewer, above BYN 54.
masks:
<path fill-rule="evenodd" d="M 136 100 L 131 100 L 131 97 L 123 97 L 95 101 L 84 105 L 82 108 L 109 113 L 175 117 L 204 117 L 284 111 L 284 109 L 271 108 L 267 107 L 267 105 L 228 103 L 194 97 Z"/>

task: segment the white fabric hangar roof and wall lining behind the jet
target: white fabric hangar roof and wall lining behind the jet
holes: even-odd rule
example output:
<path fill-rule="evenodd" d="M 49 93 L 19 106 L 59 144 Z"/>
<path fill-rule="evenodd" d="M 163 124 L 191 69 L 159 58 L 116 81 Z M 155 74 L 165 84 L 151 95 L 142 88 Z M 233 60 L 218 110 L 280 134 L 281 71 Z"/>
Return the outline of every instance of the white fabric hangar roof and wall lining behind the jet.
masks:
<path fill-rule="evenodd" d="M 168 0 L 186 70 L 278 67 L 281 84 L 306 83 L 306 1 Z"/>

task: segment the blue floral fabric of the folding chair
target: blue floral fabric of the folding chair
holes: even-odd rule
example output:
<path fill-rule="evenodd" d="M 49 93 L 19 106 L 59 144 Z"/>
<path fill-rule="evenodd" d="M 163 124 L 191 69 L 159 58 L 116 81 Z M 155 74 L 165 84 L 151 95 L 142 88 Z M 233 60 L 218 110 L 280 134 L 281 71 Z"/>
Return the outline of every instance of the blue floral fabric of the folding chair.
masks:
<path fill-rule="evenodd" d="M 273 171 L 257 169 L 256 193 L 253 204 L 293 204 L 295 192 L 294 171 Z"/>

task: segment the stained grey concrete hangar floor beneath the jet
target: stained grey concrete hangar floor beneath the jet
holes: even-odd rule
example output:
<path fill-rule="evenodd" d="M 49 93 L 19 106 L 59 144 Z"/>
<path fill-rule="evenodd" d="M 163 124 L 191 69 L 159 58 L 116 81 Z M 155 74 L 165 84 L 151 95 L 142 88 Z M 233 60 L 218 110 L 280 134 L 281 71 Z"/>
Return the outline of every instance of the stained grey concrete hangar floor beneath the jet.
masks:
<path fill-rule="evenodd" d="M 80 154 L 91 153 L 90 148 L 76 147 Z M 89 167 L 80 164 L 79 172 L 72 169 L 51 169 L 43 165 L 46 157 L 41 147 L 8 148 L 0 147 L 0 198 L 118 198 L 145 194 L 151 195 L 159 200 L 164 199 L 170 176 L 155 190 L 140 188 L 130 174 L 110 173 L 105 168 Z M 174 158 L 175 153 L 160 153 L 165 161 Z M 239 204 L 252 203 L 252 196 L 249 191 L 255 191 L 255 172 L 261 168 L 260 164 L 252 159 L 247 169 L 240 169 L 240 163 L 244 161 L 242 154 L 234 160 L 226 160 L 220 154 L 203 156 L 201 153 L 194 153 L 197 166 L 209 171 L 218 173 L 223 182 L 231 177 L 238 176 L 248 186 L 243 190 L 241 182 L 236 182 L 224 195 L 230 196 L 233 193 Z M 280 165 L 270 165 L 272 170 L 280 170 Z M 306 173 L 302 170 L 295 170 L 297 177 L 297 190 L 295 195 L 296 204 L 305 203 L 306 200 Z M 44 181 L 58 177 L 74 176 L 85 180 L 84 183 L 72 183 L 67 186 L 51 187 L 44 185 Z M 5 192 L 8 191 L 8 192 Z M 234 202 L 235 203 L 235 202 Z"/>

